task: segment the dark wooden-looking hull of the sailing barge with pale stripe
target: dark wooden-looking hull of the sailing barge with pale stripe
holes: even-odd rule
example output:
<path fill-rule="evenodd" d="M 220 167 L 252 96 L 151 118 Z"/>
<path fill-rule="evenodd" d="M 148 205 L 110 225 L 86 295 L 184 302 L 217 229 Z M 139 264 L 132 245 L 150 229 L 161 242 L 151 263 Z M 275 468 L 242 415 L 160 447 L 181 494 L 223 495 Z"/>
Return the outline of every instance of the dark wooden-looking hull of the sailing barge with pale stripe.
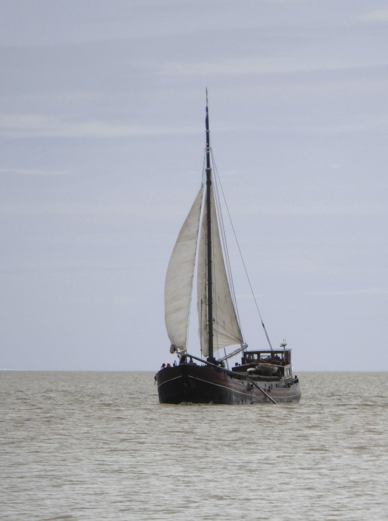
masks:
<path fill-rule="evenodd" d="M 182 364 L 168 367 L 161 369 L 155 378 L 160 403 L 246 405 L 272 403 L 268 396 L 277 403 L 297 403 L 301 399 L 301 389 L 296 379 L 285 382 L 284 379 L 270 380 L 267 377 L 266 381 L 259 381 L 205 365 Z"/>

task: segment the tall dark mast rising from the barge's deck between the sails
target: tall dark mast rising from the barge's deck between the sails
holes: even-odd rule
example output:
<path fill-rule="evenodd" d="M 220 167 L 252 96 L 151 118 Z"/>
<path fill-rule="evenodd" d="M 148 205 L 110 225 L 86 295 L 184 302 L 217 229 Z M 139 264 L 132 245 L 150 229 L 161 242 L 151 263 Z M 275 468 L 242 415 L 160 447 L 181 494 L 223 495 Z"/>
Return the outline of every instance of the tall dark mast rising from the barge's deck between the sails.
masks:
<path fill-rule="evenodd" d="M 207 307 L 208 307 L 208 361 L 214 363 L 213 348 L 213 281 L 211 270 L 211 166 L 210 166 L 210 131 L 209 131 L 209 109 L 206 89 L 206 235 L 207 235 Z"/>

